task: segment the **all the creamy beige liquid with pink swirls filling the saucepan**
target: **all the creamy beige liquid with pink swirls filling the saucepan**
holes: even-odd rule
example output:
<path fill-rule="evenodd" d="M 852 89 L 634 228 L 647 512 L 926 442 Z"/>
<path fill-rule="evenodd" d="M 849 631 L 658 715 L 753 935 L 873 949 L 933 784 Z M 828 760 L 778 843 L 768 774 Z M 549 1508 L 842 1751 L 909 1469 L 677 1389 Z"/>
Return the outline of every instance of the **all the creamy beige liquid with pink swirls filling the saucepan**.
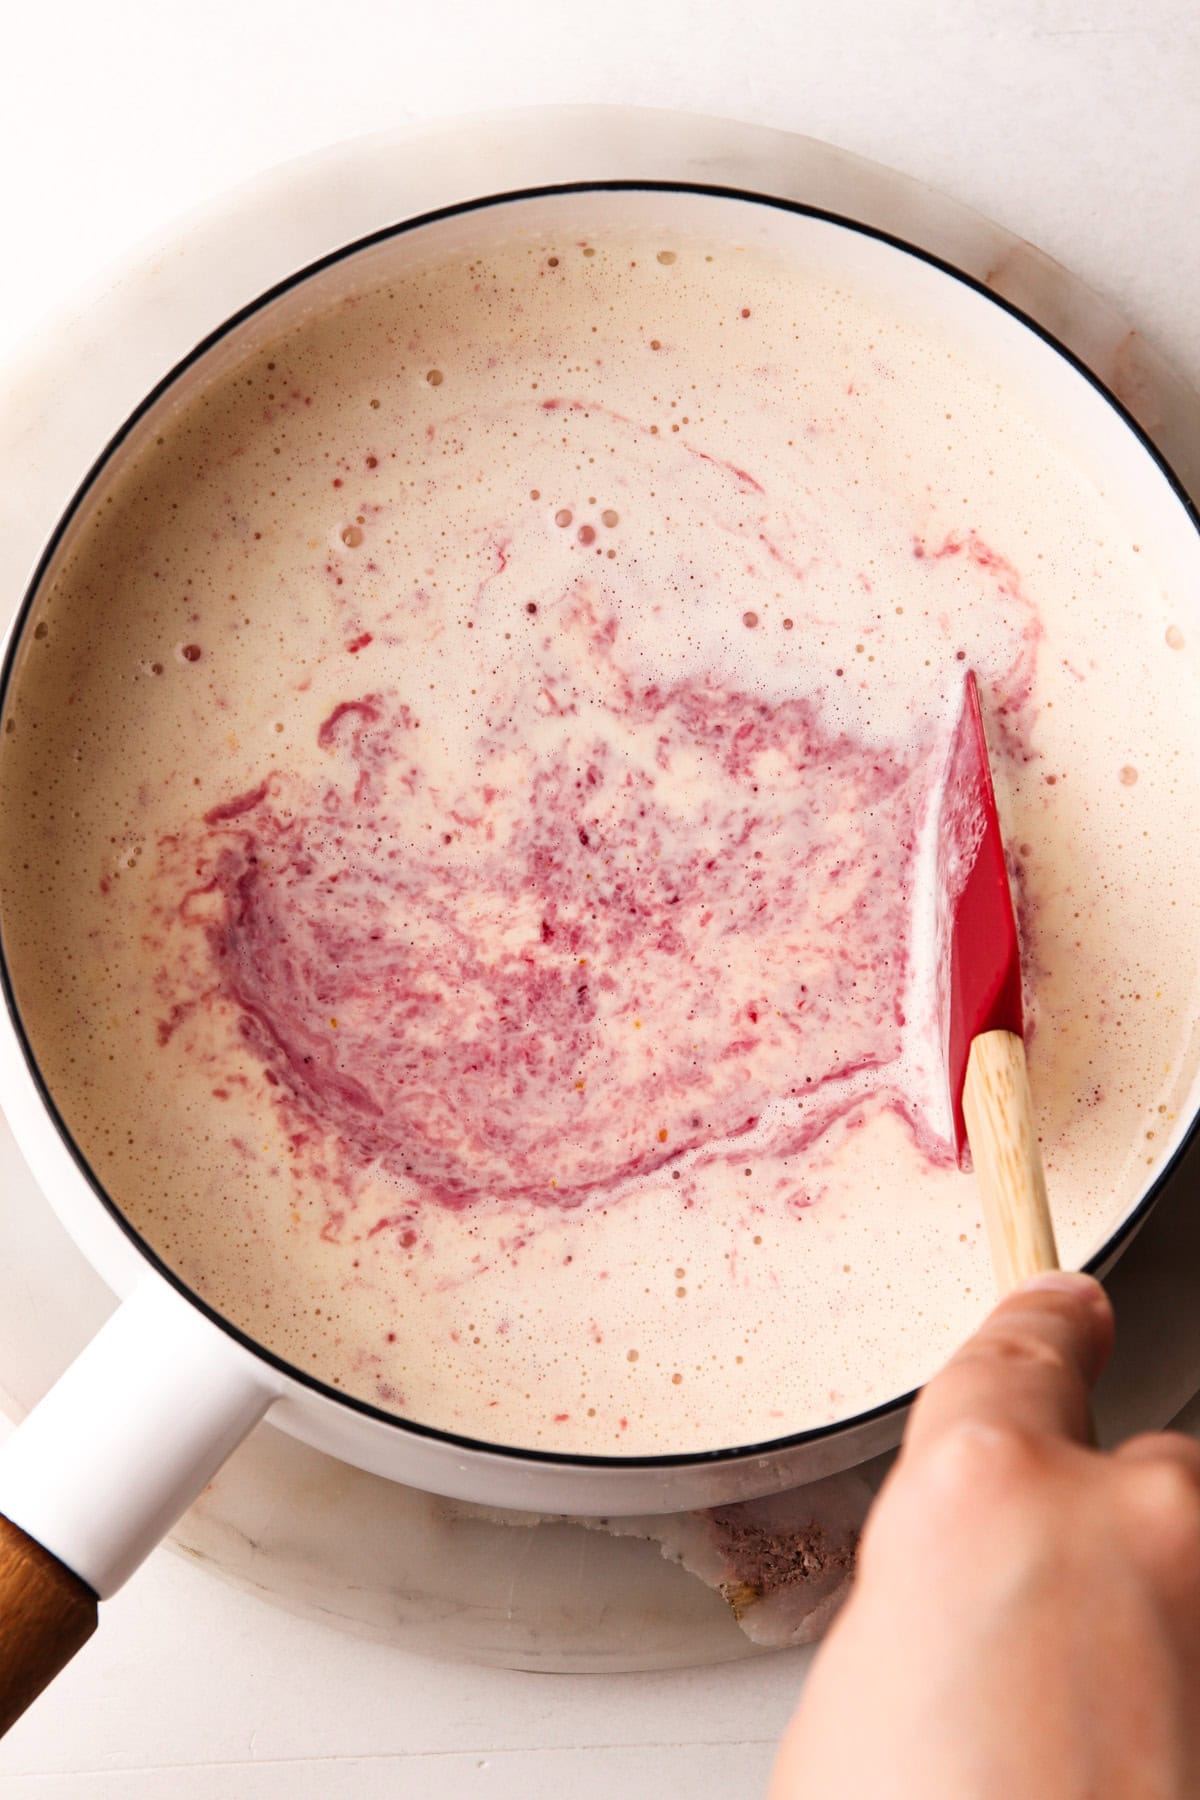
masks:
<path fill-rule="evenodd" d="M 47 587 L 0 765 L 41 1069 L 187 1283 L 403 1417 L 873 1406 L 991 1292 L 912 931 L 966 668 L 1067 1262 L 1175 1130 L 1182 605 L 878 295 L 570 230 L 410 268 L 176 409 Z"/>

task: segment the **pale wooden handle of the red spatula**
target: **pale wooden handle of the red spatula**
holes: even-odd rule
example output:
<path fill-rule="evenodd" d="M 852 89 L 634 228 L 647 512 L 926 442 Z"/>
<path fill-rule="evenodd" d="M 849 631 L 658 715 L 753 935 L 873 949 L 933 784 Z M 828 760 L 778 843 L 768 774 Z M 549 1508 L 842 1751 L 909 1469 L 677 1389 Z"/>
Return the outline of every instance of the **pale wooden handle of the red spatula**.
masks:
<path fill-rule="evenodd" d="M 1027 1276 L 1058 1269 L 1025 1046 L 1015 1031 L 984 1031 L 972 1042 L 963 1116 L 984 1202 L 997 1287 L 1007 1294 L 1009 1287 Z"/>

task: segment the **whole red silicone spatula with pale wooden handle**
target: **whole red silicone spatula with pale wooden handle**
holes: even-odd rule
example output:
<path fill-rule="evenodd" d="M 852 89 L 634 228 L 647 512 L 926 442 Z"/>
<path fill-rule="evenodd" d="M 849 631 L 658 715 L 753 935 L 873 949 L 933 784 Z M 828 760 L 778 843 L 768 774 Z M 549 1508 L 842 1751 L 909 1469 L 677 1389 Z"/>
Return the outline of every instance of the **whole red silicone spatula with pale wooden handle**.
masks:
<path fill-rule="evenodd" d="M 1025 1073 L 1020 945 L 975 675 L 937 819 L 937 995 L 959 1166 L 970 1143 L 997 1285 L 1058 1267 Z"/>

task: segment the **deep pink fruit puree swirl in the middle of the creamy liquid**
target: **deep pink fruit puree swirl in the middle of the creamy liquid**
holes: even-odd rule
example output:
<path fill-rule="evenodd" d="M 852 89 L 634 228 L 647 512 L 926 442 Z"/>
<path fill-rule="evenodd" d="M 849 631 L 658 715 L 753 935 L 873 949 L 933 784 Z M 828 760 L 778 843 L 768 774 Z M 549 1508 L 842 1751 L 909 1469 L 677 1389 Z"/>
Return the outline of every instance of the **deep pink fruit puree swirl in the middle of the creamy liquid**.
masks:
<path fill-rule="evenodd" d="M 1015 585 L 986 547 L 948 547 Z M 293 1148 L 331 1134 L 450 1208 L 574 1206 L 730 1156 L 772 1102 L 793 1102 L 774 1154 L 887 1105 L 946 1161 L 896 1075 L 939 727 L 880 751 L 808 698 L 639 684 L 613 617 L 547 610 L 453 788 L 412 706 L 376 688 L 333 707 L 308 772 L 164 842 L 160 918 L 205 934 L 207 968 L 193 992 L 160 979 L 162 1040 L 232 1008 Z M 995 684 L 1009 736 L 1034 643 Z M 547 707 L 529 749 L 522 716 Z"/>

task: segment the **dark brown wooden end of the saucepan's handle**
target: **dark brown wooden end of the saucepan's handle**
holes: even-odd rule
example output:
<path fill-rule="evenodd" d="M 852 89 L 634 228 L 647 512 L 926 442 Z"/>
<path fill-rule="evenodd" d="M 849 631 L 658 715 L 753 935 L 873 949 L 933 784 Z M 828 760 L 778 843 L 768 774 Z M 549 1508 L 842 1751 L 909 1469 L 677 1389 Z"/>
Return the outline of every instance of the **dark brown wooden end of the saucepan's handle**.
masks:
<path fill-rule="evenodd" d="M 94 1631 L 88 1584 L 0 1517 L 0 1737 Z"/>

